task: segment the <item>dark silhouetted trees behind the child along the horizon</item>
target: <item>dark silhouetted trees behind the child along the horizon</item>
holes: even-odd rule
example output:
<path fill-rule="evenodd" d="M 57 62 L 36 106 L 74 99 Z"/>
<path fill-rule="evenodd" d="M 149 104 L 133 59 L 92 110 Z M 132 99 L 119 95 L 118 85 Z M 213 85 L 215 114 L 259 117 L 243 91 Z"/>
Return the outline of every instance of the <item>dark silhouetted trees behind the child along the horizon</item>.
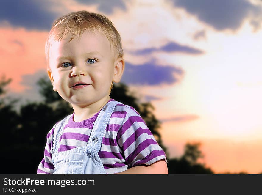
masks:
<path fill-rule="evenodd" d="M 57 121 L 72 114 L 73 109 L 57 92 L 53 91 L 52 84 L 47 78 L 41 78 L 38 85 L 44 101 L 28 102 L 17 110 L 15 104 L 19 100 L 6 96 L 5 89 L 10 82 L 11 79 L 5 77 L 0 81 L 0 117 L 3 133 L 1 143 L 2 159 L 5 164 L 1 174 L 36 174 L 37 166 L 43 159 L 46 134 Z M 152 104 L 139 103 L 138 98 L 132 95 L 127 85 L 123 83 L 114 85 L 110 97 L 138 111 L 168 158 L 169 155 L 159 132 L 160 121 L 153 114 Z M 199 145 L 199 143 L 187 143 L 184 154 L 180 158 L 168 158 L 169 174 L 214 174 L 205 164 L 198 163 L 198 160 L 204 157 L 199 150 Z"/>

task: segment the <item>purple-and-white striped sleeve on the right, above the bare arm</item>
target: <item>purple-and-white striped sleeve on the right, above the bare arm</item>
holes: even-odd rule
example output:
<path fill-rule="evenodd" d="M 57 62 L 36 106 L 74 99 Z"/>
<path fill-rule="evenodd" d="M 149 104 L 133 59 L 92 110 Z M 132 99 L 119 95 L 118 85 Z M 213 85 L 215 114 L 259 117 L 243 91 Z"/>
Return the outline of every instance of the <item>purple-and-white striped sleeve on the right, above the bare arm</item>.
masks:
<path fill-rule="evenodd" d="M 167 163 L 165 152 L 135 110 L 127 113 L 116 139 L 129 167 L 151 165 L 161 159 Z"/>

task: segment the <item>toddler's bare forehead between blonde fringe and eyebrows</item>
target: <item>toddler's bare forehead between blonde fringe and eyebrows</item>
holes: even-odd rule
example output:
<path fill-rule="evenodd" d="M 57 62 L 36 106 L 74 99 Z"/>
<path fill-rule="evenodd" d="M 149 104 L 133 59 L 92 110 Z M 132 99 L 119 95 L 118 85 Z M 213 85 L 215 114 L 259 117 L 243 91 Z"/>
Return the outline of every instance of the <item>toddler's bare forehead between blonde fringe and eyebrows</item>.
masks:
<path fill-rule="evenodd" d="M 85 31 L 81 37 L 65 37 L 60 41 L 54 41 L 50 47 L 50 60 L 57 61 L 61 57 L 80 56 L 86 53 L 96 53 L 103 57 L 112 57 L 111 45 L 105 34 L 101 32 Z"/>

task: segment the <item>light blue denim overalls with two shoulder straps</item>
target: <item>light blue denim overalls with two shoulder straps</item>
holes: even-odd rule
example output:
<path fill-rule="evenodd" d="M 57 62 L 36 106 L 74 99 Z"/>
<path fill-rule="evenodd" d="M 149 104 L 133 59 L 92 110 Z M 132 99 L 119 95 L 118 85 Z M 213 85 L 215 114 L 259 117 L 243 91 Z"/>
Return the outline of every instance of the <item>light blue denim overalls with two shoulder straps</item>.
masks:
<path fill-rule="evenodd" d="M 98 156 L 98 152 L 101 150 L 102 139 L 105 136 L 109 119 L 118 103 L 120 102 L 107 102 L 101 109 L 94 122 L 87 146 L 76 147 L 64 152 L 57 152 L 59 148 L 58 140 L 72 114 L 56 125 L 54 129 L 54 147 L 52 151 L 52 161 L 54 164 L 53 174 L 106 174 L 104 166 Z"/>

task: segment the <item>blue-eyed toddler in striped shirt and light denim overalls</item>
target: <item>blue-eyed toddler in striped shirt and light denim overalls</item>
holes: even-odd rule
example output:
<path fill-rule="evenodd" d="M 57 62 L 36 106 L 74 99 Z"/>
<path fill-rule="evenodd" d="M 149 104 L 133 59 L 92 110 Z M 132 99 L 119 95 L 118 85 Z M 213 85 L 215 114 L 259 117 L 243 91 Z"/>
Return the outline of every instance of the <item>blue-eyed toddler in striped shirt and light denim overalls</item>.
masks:
<path fill-rule="evenodd" d="M 47 134 L 38 174 L 167 174 L 165 152 L 131 106 L 110 98 L 124 71 L 121 38 L 105 16 L 87 11 L 54 21 L 48 76 L 74 113 Z"/>

